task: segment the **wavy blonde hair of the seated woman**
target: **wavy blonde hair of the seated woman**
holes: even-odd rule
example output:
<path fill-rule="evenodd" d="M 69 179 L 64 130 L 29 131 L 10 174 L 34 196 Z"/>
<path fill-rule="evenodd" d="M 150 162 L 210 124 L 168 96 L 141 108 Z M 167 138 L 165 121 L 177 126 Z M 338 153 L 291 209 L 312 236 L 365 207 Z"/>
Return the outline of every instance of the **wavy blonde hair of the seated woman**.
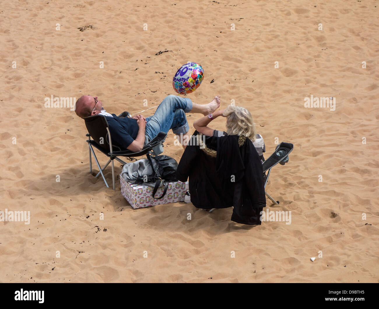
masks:
<path fill-rule="evenodd" d="M 226 133 L 244 135 L 252 142 L 255 141 L 255 123 L 251 113 L 246 108 L 229 105 L 222 115 L 227 117 Z"/>

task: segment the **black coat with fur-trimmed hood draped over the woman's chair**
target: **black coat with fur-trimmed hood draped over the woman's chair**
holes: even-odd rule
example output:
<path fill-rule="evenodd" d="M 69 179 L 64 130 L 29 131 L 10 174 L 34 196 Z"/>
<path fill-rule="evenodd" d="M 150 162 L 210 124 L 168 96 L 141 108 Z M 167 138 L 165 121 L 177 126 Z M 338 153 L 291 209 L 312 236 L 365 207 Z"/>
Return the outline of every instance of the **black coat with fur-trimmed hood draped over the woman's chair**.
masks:
<path fill-rule="evenodd" d="M 176 176 L 183 182 L 189 177 L 195 207 L 234 206 L 232 221 L 261 224 L 260 212 L 266 207 L 262 163 L 250 140 L 245 138 L 242 146 L 238 141 L 237 135 L 207 136 L 205 147 L 200 149 L 194 134 Z"/>

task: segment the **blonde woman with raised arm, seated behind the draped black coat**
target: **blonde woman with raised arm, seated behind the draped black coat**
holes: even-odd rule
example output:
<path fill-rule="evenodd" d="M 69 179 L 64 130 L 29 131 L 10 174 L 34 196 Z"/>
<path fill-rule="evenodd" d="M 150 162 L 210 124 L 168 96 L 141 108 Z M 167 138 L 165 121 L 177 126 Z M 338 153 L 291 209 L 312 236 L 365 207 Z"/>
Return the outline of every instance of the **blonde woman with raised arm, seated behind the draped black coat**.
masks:
<path fill-rule="evenodd" d="M 226 131 L 218 131 L 208 127 L 208 124 L 219 116 L 227 119 Z M 193 126 L 197 132 L 206 136 L 245 135 L 252 141 L 262 162 L 264 160 L 263 152 L 266 151 L 266 147 L 263 137 L 256 133 L 251 113 L 244 107 L 229 105 L 224 110 L 215 111 L 213 114 L 196 120 Z"/>

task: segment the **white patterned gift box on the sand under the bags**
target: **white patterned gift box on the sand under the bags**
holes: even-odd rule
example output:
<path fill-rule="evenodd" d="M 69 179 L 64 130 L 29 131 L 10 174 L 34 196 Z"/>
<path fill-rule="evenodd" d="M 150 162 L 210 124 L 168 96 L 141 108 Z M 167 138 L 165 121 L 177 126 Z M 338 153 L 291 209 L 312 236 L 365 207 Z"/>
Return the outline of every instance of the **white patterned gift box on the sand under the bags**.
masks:
<path fill-rule="evenodd" d="M 169 182 L 166 194 L 161 199 L 153 198 L 153 188 L 145 185 L 135 185 L 127 182 L 120 174 L 121 194 L 133 207 L 133 209 L 182 202 L 188 189 L 187 182 Z M 158 188 L 155 196 L 161 196 L 164 187 Z"/>

